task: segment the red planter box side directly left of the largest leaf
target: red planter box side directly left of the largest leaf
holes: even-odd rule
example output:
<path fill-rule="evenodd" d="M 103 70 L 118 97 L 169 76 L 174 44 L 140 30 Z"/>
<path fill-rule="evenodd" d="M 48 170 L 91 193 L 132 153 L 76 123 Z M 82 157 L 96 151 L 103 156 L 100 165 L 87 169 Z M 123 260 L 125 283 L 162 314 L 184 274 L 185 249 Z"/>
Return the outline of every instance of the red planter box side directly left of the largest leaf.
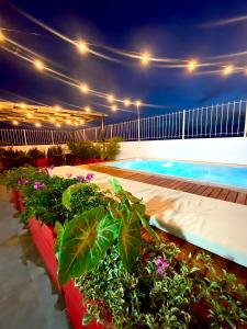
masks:
<path fill-rule="evenodd" d="M 60 292 L 57 279 L 57 259 L 54 252 L 54 243 L 56 239 L 54 229 L 46 224 L 42 224 L 42 222 L 36 218 L 30 219 L 29 228 L 33 242 L 43 259 L 46 270 L 58 292 Z"/>

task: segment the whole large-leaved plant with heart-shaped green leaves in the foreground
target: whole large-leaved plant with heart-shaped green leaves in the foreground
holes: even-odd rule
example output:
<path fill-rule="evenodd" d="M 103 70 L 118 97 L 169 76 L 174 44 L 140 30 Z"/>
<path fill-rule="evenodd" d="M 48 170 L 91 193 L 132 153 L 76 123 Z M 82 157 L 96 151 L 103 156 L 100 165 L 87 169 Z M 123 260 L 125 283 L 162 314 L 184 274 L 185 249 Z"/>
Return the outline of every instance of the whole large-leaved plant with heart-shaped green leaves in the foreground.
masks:
<path fill-rule="evenodd" d="M 124 191 L 116 180 L 111 180 L 113 191 L 104 191 L 97 197 L 102 205 L 91 211 L 77 212 L 64 227 L 58 251 L 58 279 L 65 284 L 70 277 L 92 271 L 106 250 L 117 243 L 123 265 L 130 271 L 141 250 L 141 223 L 145 219 L 145 206 L 141 200 Z M 71 206 L 72 196 L 80 184 L 71 185 L 64 192 L 63 204 Z M 106 195 L 108 193 L 108 195 Z M 149 231 L 156 234 L 149 227 Z"/>

